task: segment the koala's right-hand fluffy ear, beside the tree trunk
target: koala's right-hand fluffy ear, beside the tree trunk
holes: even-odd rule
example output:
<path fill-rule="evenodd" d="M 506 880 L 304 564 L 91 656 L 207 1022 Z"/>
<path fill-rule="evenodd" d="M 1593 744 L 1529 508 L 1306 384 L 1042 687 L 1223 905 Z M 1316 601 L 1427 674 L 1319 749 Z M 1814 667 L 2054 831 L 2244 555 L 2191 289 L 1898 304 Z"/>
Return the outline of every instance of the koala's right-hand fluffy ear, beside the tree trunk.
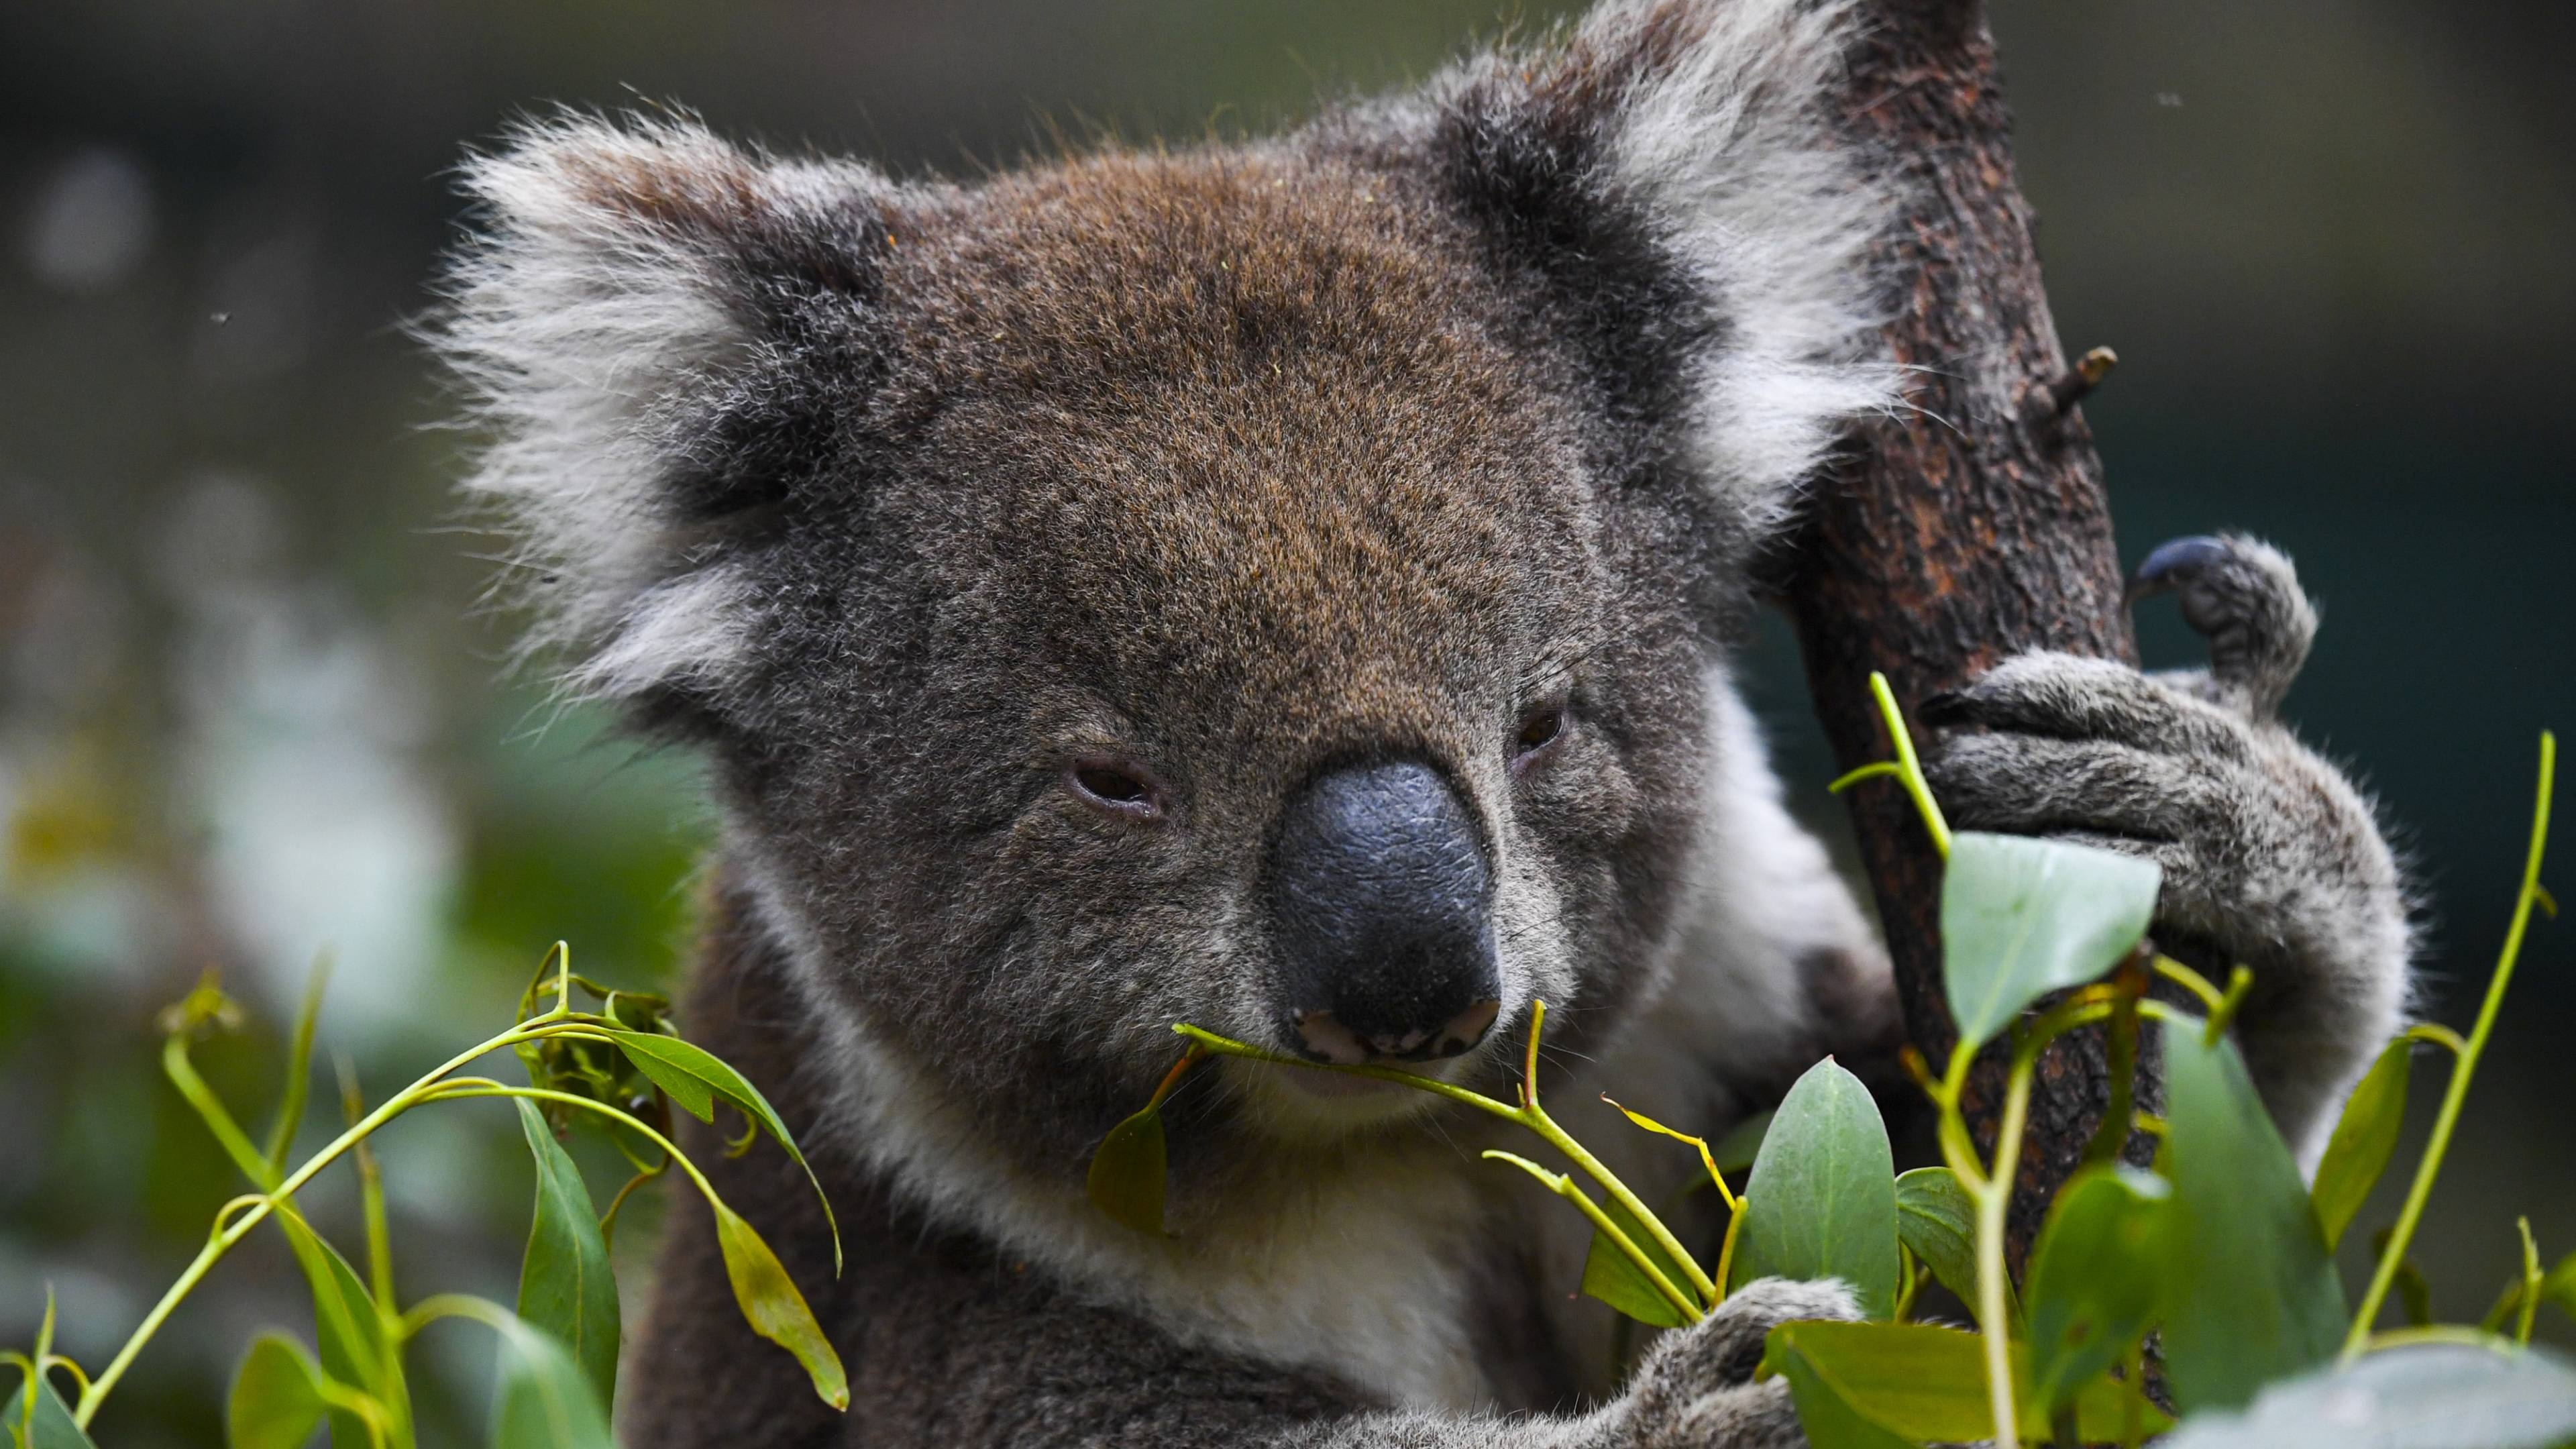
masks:
<path fill-rule="evenodd" d="M 1893 397 L 1865 260 L 1891 193 L 1832 116 L 1852 28 L 1850 0 L 1607 0 L 1430 93 L 1443 183 L 1613 425 L 1669 438 L 1749 534 Z"/>

